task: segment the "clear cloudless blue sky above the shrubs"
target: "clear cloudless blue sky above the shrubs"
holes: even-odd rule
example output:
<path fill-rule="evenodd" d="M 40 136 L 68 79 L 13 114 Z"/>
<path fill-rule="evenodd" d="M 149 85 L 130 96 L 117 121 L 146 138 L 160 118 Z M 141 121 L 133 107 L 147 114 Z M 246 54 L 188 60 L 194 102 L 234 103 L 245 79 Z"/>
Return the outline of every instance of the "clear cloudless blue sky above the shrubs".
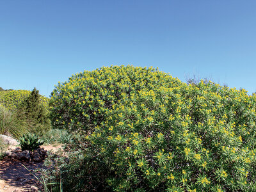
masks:
<path fill-rule="evenodd" d="M 0 86 L 49 96 L 83 70 L 159 67 L 256 92 L 256 1 L 0 1 Z"/>

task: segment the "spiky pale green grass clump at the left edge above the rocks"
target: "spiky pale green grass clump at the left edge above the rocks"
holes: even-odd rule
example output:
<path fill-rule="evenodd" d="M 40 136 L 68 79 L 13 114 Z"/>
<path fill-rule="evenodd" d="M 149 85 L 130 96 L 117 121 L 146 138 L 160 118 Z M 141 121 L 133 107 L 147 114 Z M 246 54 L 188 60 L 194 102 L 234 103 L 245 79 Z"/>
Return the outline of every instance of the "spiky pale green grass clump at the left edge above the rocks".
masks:
<path fill-rule="evenodd" d="M 19 138 L 28 131 L 29 120 L 24 114 L 10 111 L 0 104 L 0 134 L 10 134 Z"/>

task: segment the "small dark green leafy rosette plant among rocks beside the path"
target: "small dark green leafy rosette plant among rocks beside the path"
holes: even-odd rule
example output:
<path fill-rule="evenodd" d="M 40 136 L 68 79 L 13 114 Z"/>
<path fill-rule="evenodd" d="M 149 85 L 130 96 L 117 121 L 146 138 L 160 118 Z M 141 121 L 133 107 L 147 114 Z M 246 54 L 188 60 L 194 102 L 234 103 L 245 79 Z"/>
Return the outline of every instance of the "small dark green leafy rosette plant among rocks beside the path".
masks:
<path fill-rule="evenodd" d="M 20 137 L 19 142 L 21 150 L 31 151 L 39 148 L 40 145 L 44 144 L 44 141 L 40 140 L 38 136 L 35 134 L 30 134 L 29 132 Z"/>

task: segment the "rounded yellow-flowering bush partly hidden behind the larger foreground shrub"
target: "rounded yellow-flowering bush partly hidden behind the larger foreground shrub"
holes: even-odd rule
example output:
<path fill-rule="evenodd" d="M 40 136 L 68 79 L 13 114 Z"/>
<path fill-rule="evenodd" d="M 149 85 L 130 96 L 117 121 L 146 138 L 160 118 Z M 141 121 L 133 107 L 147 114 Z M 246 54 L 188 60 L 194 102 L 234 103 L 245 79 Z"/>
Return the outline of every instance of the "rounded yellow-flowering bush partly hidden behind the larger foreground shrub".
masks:
<path fill-rule="evenodd" d="M 113 105 L 125 97 L 179 84 L 179 79 L 154 68 L 129 65 L 84 71 L 59 83 L 51 93 L 52 124 L 60 129 L 87 131 L 104 122 Z"/>

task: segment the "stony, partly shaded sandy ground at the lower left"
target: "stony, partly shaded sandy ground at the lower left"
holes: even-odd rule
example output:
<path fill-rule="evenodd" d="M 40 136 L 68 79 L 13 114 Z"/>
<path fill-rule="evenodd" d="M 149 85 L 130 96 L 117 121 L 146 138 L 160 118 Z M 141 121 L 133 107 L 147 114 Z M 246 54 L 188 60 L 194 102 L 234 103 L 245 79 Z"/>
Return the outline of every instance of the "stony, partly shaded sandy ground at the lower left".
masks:
<path fill-rule="evenodd" d="M 10 148 L 16 148 L 15 146 L 10 146 Z M 61 145 L 43 145 L 42 148 L 45 150 L 52 150 L 52 152 L 57 151 L 61 148 Z M 42 191 L 42 185 L 35 178 L 34 175 L 40 175 L 39 172 L 35 170 L 38 168 L 43 168 L 41 163 L 29 163 L 24 161 L 17 161 L 15 159 L 4 158 L 0 161 L 0 192 L 12 192 L 12 191 L 33 191 L 31 186 L 36 186 Z M 28 168 L 28 171 L 26 168 Z M 33 174 L 32 174 L 33 173 Z M 32 187 L 33 188 L 33 187 Z"/>

